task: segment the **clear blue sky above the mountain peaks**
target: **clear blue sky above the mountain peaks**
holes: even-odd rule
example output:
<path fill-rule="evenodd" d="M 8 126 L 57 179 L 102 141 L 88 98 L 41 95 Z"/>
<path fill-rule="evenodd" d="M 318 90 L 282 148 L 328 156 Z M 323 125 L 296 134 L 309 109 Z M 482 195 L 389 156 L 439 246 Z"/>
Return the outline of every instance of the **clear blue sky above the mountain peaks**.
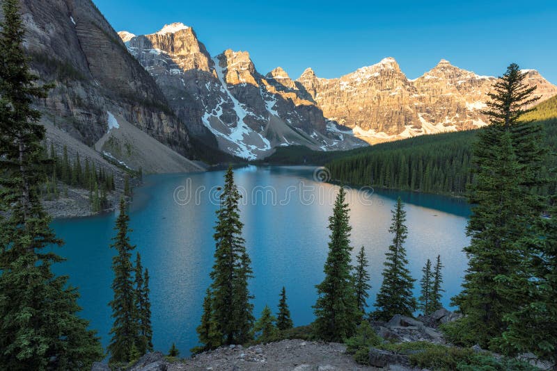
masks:
<path fill-rule="evenodd" d="M 93 0 L 116 31 L 182 22 L 212 56 L 249 51 L 258 72 L 333 78 L 392 56 L 409 79 L 441 58 L 480 75 L 507 65 L 557 84 L 557 0 Z"/>

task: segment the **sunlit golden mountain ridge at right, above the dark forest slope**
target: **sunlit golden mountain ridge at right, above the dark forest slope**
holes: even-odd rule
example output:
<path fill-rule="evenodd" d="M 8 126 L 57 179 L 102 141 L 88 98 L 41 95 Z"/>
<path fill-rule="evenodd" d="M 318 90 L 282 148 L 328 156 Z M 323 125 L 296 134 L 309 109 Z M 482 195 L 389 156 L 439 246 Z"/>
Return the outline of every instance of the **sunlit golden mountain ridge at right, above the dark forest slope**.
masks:
<path fill-rule="evenodd" d="M 536 85 L 540 101 L 557 94 L 557 87 L 537 71 L 523 70 Z M 481 113 L 496 79 L 441 60 L 418 79 L 409 80 L 393 58 L 362 67 L 338 79 L 321 79 L 306 69 L 295 82 L 324 116 L 352 129 L 370 143 L 415 135 L 484 126 Z"/>

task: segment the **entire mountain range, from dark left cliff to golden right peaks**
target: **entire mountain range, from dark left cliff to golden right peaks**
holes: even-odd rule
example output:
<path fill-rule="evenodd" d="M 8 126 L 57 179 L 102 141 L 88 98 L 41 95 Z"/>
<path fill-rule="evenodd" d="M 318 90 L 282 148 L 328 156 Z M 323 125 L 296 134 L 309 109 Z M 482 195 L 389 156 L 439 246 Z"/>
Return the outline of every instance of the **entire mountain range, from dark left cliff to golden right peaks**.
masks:
<path fill-rule="evenodd" d="M 181 23 L 116 33 L 91 0 L 21 4 L 31 67 L 55 83 L 36 102 L 43 121 L 128 165 L 134 152 L 152 151 L 141 148 L 151 143 L 144 135 L 184 160 L 219 151 L 255 159 L 279 146 L 352 149 L 487 122 L 481 110 L 494 77 L 446 60 L 414 80 L 393 58 L 338 79 L 308 68 L 294 80 L 281 67 L 261 74 L 246 51 L 209 53 Z M 542 100 L 557 94 L 535 70 L 524 73 Z"/>

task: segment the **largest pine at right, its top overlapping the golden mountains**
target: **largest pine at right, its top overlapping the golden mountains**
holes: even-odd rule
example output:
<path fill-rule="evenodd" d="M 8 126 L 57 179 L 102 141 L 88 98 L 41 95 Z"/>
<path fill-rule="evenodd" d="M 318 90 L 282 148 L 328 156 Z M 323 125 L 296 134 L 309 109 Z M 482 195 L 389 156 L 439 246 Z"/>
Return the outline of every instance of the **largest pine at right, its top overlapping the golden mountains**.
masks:
<path fill-rule="evenodd" d="M 529 111 L 524 106 L 536 100 L 525 77 L 512 64 L 494 85 L 485 112 L 491 124 L 473 148 L 475 206 L 467 228 L 471 243 L 464 248 L 469 266 L 463 290 L 453 298 L 465 317 L 447 329 L 455 342 L 488 347 L 508 327 L 505 316 L 528 302 L 528 241 L 538 235 L 535 224 L 545 205 L 534 189 L 544 181 L 540 127 L 519 121 Z"/>

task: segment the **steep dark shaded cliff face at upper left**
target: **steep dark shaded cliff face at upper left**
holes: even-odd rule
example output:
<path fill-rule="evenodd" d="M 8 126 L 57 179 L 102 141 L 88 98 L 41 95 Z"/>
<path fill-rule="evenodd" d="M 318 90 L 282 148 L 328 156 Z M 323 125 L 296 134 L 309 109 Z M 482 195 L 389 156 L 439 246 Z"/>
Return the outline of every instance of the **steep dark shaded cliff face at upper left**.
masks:
<path fill-rule="evenodd" d="M 152 77 L 90 0 L 21 1 L 31 68 L 55 88 L 37 102 L 47 119 L 93 145 L 108 130 L 108 112 L 182 154 L 187 129 Z"/>

